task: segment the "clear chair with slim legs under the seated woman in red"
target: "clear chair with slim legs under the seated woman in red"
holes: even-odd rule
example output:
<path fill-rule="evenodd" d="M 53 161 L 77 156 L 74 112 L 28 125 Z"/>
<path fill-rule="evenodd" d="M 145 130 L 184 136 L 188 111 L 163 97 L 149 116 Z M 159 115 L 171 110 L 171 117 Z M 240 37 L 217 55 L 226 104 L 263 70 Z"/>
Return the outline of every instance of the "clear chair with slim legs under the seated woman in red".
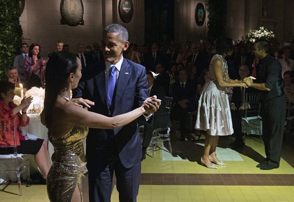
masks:
<path fill-rule="evenodd" d="M 0 170 L 0 178 L 1 174 L 3 173 L 15 173 L 17 177 L 19 196 L 22 196 L 20 176 L 24 171 L 27 171 L 28 182 L 30 182 L 30 166 L 29 160 L 23 160 L 23 158 L 21 157 L 22 154 L 17 153 L 18 137 L 16 136 L 16 130 L 17 128 L 15 118 L 10 120 L 0 120 L 0 148 L 13 147 L 14 150 L 12 154 L 0 155 L 1 165 L 4 165 L 4 163 L 10 163 L 9 167 L 3 167 L 4 170 Z M 20 162 L 20 159 L 22 159 L 22 163 Z M 13 163 L 14 166 L 11 166 L 11 163 Z M 5 187 L 1 189 L 1 191 L 3 191 Z"/>

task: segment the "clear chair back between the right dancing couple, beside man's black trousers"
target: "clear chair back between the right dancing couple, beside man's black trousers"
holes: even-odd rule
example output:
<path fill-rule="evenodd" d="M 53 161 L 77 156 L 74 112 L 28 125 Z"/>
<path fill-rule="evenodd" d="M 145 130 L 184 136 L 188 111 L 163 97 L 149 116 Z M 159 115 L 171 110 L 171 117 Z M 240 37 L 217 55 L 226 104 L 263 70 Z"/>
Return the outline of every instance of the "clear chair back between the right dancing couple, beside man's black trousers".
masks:
<path fill-rule="evenodd" d="M 245 94 L 245 117 L 259 116 L 260 112 L 260 93 L 246 93 Z"/>

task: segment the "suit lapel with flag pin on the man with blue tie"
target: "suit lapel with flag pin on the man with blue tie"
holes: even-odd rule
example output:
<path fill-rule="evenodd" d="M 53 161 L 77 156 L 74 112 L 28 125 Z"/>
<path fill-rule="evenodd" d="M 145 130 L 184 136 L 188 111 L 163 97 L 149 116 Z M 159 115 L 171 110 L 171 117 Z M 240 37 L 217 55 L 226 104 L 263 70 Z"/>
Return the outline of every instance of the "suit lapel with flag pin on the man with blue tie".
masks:
<path fill-rule="evenodd" d="M 127 60 L 124 58 L 123 62 L 121 64 L 121 68 L 119 71 L 119 76 L 117 79 L 117 86 L 116 86 L 116 94 L 115 94 L 115 104 L 114 107 L 117 107 L 117 104 L 124 93 L 124 90 L 126 88 L 126 85 L 129 81 L 130 75 L 131 75 L 131 69 L 129 68 L 130 65 L 127 62 Z M 115 110 L 115 109 L 114 109 Z"/>

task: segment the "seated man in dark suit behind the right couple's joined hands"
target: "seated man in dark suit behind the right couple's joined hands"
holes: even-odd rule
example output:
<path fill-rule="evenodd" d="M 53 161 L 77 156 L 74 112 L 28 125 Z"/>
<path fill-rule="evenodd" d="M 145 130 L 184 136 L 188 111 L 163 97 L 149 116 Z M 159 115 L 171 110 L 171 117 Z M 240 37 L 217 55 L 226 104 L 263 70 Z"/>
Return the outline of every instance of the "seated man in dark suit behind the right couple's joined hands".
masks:
<path fill-rule="evenodd" d="M 249 67 L 247 65 L 241 65 L 239 67 L 239 78 L 243 80 L 249 76 Z M 233 122 L 234 135 L 236 140 L 230 144 L 233 148 L 239 148 L 244 146 L 243 134 L 242 134 L 242 116 L 244 115 L 245 108 L 248 107 L 245 103 L 245 93 L 254 92 L 253 88 L 233 88 L 233 95 L 231 99 L 231 115 Z"/>

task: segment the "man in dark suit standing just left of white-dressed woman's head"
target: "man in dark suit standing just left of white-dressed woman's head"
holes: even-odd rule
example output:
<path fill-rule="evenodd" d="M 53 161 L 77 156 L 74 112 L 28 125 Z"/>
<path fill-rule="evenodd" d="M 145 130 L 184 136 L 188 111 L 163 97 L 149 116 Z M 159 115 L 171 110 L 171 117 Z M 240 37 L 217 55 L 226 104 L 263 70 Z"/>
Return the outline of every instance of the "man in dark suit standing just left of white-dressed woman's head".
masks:
<path fill-rule="evenodd" d="M 205 57 L 201 54 L 200 50 L 200 43 L 194 42 L 191 46 L 192 54 L 188 56 L 187 62 L 188 64 L 195 64 L 197 69 L 197 77 L 200 77 L 201 72 L 203 69 L 206 68 L 207 63 Z"/>

